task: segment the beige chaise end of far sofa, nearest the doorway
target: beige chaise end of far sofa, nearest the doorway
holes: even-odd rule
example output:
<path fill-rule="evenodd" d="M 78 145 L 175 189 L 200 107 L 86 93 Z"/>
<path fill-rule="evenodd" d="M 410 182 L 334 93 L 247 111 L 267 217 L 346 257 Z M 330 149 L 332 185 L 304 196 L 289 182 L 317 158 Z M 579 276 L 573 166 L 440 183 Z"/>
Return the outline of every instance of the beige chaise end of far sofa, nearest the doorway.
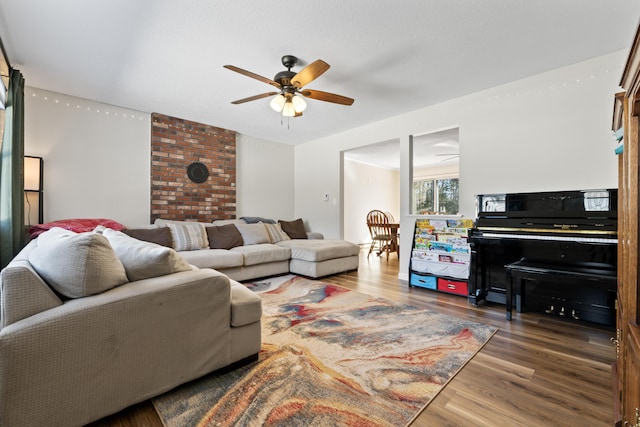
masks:
<path fill-rule="evenodd" d="M 357 270 L 360 247 L 346 240 L 292 239 L 276 245 L 291 249 L 289 271 L 318 278 Z"/>

